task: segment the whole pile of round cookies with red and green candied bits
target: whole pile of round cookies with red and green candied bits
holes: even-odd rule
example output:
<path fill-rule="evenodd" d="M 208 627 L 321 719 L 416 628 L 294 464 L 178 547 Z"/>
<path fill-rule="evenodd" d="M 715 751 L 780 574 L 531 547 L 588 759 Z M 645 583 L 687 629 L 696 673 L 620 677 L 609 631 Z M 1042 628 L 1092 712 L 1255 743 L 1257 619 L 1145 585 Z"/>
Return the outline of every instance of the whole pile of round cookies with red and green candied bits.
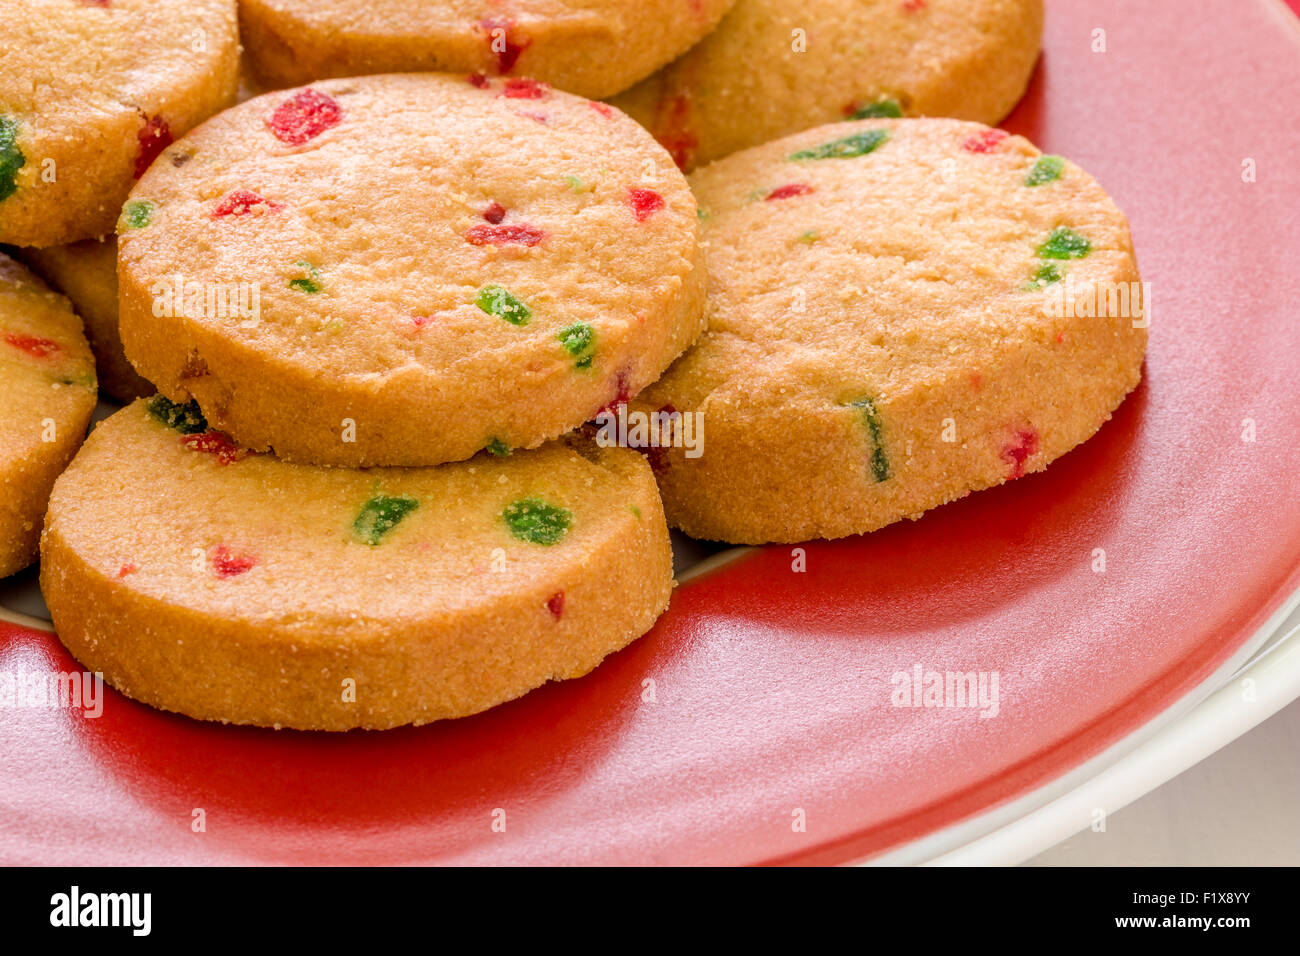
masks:
<path fill-rule="evenodd" d="M 81 82 L 138 112 L 60 114 L 55 155 L 52 40 L 0 27 L 32 51 L 29 98 L 0 95 L 0 242 L 42 247 L 135 401 L 51 496 L 94 372 L 6 265 L 0 571 L 49 496 L 61 639 L 156 706 L 471 714 L 646 632 L 670 523 L 871 531 L 1041 470 L 1138 381 L 1143 323 L 1048 307 L 1138 284 L 1123 216 L 982 125 L 1040 0 L 242 0 L 270 92 L 224 112 L 233 0 L 27 7 L 69 61 L 112 46 Z M 113 72 L 122 35 L 174 60 L 203 17 L 183 66 Z M 47 190 L 47 155 L 103 176 Z"/>

